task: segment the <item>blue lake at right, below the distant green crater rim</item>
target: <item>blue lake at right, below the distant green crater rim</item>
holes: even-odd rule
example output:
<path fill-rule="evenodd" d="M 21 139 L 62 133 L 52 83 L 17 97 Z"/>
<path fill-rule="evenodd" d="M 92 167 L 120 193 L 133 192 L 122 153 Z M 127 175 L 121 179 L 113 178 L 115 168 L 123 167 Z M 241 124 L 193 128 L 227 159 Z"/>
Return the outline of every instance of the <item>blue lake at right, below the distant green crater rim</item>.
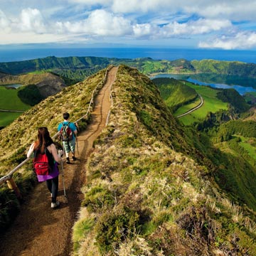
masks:
<path fill-rule="evenodd" d="M 244 95 L 246 92 L 256 92 L 256 79 L 245 78 L 236 75 L 217 75 L 217 74 L 159 74 L 154 78 L 175 78 L 177 80 L 186 80 L 198 85 L 209 85 L 213 88 L 230 89 L 233 88 Z"/>

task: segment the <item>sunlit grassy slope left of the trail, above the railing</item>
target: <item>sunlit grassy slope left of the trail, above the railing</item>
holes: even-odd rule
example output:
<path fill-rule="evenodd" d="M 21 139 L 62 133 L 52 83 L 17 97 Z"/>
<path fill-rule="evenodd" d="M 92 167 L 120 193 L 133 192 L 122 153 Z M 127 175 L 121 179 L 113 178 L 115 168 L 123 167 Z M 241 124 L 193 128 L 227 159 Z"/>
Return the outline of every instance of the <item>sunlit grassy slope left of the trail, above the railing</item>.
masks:
<path fill-rule="evenodd" d="M 38 127 L 48 127 L 50 134 L 55 134 L 58 122 L 63 119 L 63 112 L 70 112 L 73 119 L 79 119 L 85 114 L 85 110 L 90 103 L 92 91 L 102 82 L 105 70 L 101 70 L 97 75 L 76 85 L 65 87 L 61 92 L 48 97 L 40 104 L 31 107 L 30 110 L 21 114 L 8 127 L 0 130 L 0 174 L 7 172 L 12 167 L 25 159 L 25 151 L 28 145 L 36 139 Z M 97 88 L 97 91 L 100 87 Z M 85 128 L 90 119 L 82 120 L 81 128 Z"/>

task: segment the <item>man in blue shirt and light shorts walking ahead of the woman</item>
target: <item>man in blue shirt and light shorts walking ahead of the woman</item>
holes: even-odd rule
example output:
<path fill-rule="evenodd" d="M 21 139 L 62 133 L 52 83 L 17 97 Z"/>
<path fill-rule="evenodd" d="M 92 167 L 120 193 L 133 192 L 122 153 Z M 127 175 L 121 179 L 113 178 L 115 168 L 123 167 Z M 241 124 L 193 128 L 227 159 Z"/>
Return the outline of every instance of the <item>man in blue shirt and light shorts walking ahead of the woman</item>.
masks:
<path fill-rule="evenodd" d="M 68 112 L 63 113 L 64 122 L 61 122 L 58 125 L 58 132 L 60 134 L 60 139 L 63 142 L 63 149 L 65 151 L 66 163 L 67 164 L 70 164 L 70 158 L 69 158 L 70 151 L 71 151 L 71 154 L 72 154 L 73 161 L 76 160 L 76 157 L 75 157 L 75 138 L 78 134 L 78 129 L 75 126 L 75 124 L 73 122 L 68 121 L 69 117 L 70 117 L 70 114 Z M 69 127 L 69 131 L 67 132 L 68 134 L 64 133 L 65 132 L 65 129 L 64 129 L 65 127 Z"/>

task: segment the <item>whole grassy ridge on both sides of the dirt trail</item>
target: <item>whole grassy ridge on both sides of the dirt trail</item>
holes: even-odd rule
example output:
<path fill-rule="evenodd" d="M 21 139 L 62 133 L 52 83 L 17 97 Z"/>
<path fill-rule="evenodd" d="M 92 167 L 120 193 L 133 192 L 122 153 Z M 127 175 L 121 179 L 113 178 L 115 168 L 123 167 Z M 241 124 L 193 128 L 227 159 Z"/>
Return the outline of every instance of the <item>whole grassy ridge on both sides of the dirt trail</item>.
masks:
<path fill-rule="evenodd" d="M 81 117 L 104 75 L 66 87 L 2 129 L 1 173 L 24 159 L 38 124 L 54 134 L 66 100 L 73 118 Z M 159 89 L 134 68 L 119 66 L 112 96 L 110 123 L 87 163 L 73 255 L 256 255 L 251 159 L 221 151 L 206 133 L 181 125 Z M 250 175 L 241 175 L 243 167 Z M 33 183 L 29 166 L 14 178 L 23 189 Z M 0 196 L 3 216 L 16 204 L 6 190 Z"/>

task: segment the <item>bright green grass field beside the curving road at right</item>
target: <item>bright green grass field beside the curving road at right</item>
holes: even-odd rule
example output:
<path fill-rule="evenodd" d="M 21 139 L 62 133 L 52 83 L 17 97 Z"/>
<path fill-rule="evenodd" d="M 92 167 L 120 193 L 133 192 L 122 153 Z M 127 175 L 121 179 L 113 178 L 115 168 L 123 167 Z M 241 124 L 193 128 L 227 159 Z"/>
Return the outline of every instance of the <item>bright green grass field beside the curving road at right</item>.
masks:
<path fill-rule="evenodd" d="M 228 104 L 222 102 L 221 100 L 218 100 L 218 90 L 202 85 L 194 85 L 191 82 L 186 82 L 186 85 L 195 89 L 196 92 L 198 92 L 198 94 L 203 97 L 203 106 L 200 107 L 198 110 L 193 111 L 184 117 L 181 117 L 180 120 L 181 122 L 183 122 L 183 124 L 189 125 L 193 122 L 199 121 L 205 118 L 208 112 L 215 113 L 218 110 L 228 110 Z M 180 107 L 174 114 L 178 115 L 181 113 L 185 113 L 186 111 L 188 111 L 188 108 L 191 109 L 194 105 L 197 105 L 197 103 L 198 102 L 193 102 L 191 105 L 184 105 Z"/>

